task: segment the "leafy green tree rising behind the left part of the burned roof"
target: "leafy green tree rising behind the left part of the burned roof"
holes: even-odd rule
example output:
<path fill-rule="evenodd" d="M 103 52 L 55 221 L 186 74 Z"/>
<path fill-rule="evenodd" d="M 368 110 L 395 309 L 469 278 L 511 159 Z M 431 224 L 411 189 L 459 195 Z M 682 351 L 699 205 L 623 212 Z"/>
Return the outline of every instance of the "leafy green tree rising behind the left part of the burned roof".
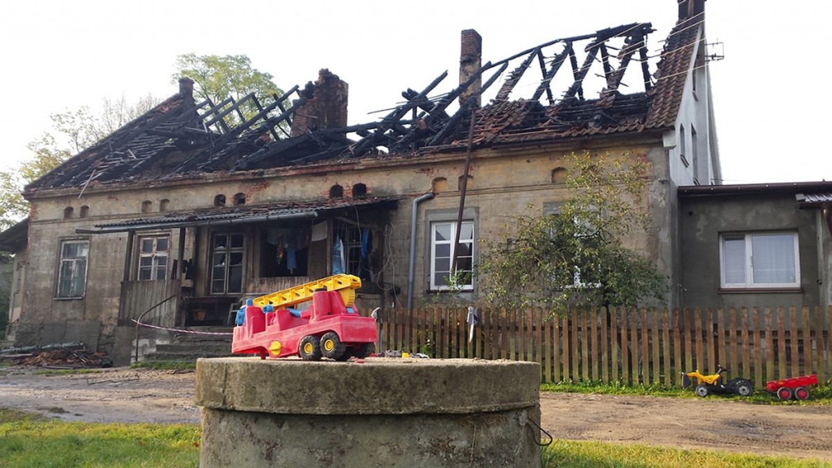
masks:
<path fill-rule="evenodd" d="M 265 71 L 251 67 L 251 60 L 245 55 L 203 55 L 189 53 L 176 57 L 176 69 L 173 81 L 187 76 L 194 81 L 194 91 L 200 99 L 209 99 L 214 105 L 231 97 L 239 102 L 250 93 L 260 99 L 281 97 L 283 90 L 275 85 L 274 76 Z M 251 101 L 240 106 L 243 116 L 248 119 L 260 109 Z M 234 119 L 235 116 L 231 115 Z"/>

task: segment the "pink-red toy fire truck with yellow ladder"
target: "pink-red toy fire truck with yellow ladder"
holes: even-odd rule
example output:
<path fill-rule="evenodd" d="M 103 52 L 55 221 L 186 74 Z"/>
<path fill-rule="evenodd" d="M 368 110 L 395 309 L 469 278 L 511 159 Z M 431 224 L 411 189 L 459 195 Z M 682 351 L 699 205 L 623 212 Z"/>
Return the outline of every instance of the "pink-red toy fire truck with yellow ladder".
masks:
<path fill-rule="evenodd" d="M 360 287 L 360 278 L 339 274 L 248 299 L 237 314 L 231 352 L 305 361 L 369 356 L 378 333 L 375 320 L 355 308 Z M 309 307 L 295 308 L 301 304 Z"/>

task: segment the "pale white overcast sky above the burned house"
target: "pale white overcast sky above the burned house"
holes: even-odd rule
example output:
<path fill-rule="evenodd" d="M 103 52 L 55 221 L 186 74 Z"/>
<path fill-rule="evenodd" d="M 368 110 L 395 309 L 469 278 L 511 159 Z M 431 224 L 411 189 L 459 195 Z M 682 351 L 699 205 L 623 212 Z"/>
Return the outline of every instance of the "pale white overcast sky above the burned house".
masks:
<path fill-rule="evenodd" d="M 371 112 L 442 71 L 439 89 L 452 89 L 463 29 L 476 29 L 483 62 L 496 62 L 559 37 L 651 22 L 654 55 L 676 17 L 676 0 L 3 2 L 0 161 L 31 157 L 27 143 L 51 129 L 54 113 L 175 94 L 176 57 L 189 52 L 246 55 L 283 89 L 329 68 L 349 83 L 354 124 L 384 116 Z M 832 2 L 706 2 L 706 37 L 721 42 L 711 52 L 725 56 L 709 63 L 724 183 L 832 180 L 818 133 L 832 108 L 821 47 L 830 18 Z"/>

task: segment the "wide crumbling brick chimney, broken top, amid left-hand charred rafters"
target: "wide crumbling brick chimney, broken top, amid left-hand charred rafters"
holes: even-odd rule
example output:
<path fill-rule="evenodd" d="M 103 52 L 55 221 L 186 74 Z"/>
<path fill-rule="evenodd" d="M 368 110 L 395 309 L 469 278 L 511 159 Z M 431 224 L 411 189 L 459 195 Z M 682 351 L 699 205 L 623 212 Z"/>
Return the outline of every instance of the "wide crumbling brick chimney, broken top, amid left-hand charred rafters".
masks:
<path fill-rule="evenodd" d="M 318 72 L 318 81 L 306 84 L 301 96 L 307 101 L 295 110 L 291 136 L 306 131 L 337 128 L 347 125 L 347 97 L 349 85 L 324 68 Z M 298 101 L 295 101 L 297 105 Z"/>

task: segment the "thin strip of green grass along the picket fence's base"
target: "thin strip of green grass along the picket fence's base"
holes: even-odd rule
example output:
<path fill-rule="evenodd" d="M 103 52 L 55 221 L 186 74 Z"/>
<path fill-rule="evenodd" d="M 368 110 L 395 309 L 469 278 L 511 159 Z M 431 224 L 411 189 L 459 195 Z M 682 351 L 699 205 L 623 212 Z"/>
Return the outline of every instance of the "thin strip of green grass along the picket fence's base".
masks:
<path fill-rule="evenodd" d="M 691 388 L 675 388 L 663 387 L 659 385 L 650 386 L 624 386 L 621 384 L 603 384 L 602 382 L 560 382 L 560 383 L 543 383 L 540 386 L 541 392 L 567 392 L 567 393 L 599 393 L 605 395 L 649 395 L 652 397 L 681 397 L 681 398 L 699 398 L 696 397 Z M 748 401 L 750 403 L 759 403 L 765 405 L 832 405 L 832 386 L 814 386 L 810 387 L 810 398 L 806 401 L 781 401 L 779 398 L 771 396 L 765 390 L 755 388 L 754 394 L 750 397 L 739 397 L 730 394 L 715 394 L 706 398 L 721 398 L 727 400 Z"/>

